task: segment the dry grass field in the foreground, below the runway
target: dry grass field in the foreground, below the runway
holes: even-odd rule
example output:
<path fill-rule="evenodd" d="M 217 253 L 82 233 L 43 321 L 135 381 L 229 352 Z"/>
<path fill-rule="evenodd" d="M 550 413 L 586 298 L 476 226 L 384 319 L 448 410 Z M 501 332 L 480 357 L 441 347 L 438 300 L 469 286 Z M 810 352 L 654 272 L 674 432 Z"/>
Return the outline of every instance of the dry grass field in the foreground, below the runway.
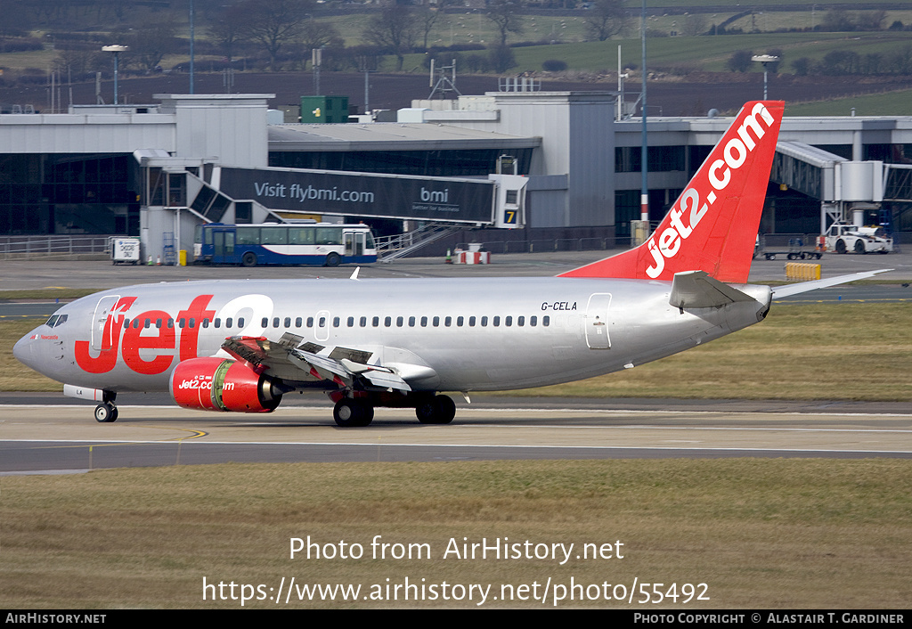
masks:
<path fill-rule="evenodd" d="M 186 447 L 186 446 L 185 446 Z M 303 583 L 706 583 L 686 609 L 902 608 L 912 580 L 907 460 L 606 460 L 216 465 L 5 477 L 0 587 L 16 608 L 229 608 L 203 578 Z M 290 559 L 291 538 L 361 559 Z M 430 557 L 374 559 L 371 540 Z M 571 559 L 461 560 L 507 538 L 573 543 Z M 623 546 L 617 546 L 620 541 Z M 622 559 L 576 559 L 585 543 Z M 580 553 L 581 554 L 581 553 Z M 612 553 L 613 554 L 613 553 Z M 239 586 L 238 586 L 239 588 Z M 597 588 L 596 588 L 597 589 Z M 647 588 L 651 592 L 651 587 Z M 239 593 L 239 590 L 238 590 Z M 637 590 L 635 600 L 641 600 Z M 493 601 L 484 607 L 627 602 Z M 477 608 L 473 601 L 248 601 L 254 608 Z M 671 604 L 666 601 L 665 604 Z M 679 601 L 679 605 L 684 602 Z M 650 609 L 653 604 L 650 603 Z"/>

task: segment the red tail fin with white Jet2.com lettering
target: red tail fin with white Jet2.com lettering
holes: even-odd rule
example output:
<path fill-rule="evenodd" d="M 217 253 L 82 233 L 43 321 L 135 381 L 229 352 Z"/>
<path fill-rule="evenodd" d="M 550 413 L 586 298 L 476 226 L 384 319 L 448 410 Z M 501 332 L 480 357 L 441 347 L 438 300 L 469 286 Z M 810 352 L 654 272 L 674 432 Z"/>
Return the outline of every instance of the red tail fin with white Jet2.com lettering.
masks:
<path fill-rule="evenodd" d="M 781 100 L 746 103 L 645 243 L 560 277 L 670 280 L 706 271 L 747 282 L 784 108 Z"/>

